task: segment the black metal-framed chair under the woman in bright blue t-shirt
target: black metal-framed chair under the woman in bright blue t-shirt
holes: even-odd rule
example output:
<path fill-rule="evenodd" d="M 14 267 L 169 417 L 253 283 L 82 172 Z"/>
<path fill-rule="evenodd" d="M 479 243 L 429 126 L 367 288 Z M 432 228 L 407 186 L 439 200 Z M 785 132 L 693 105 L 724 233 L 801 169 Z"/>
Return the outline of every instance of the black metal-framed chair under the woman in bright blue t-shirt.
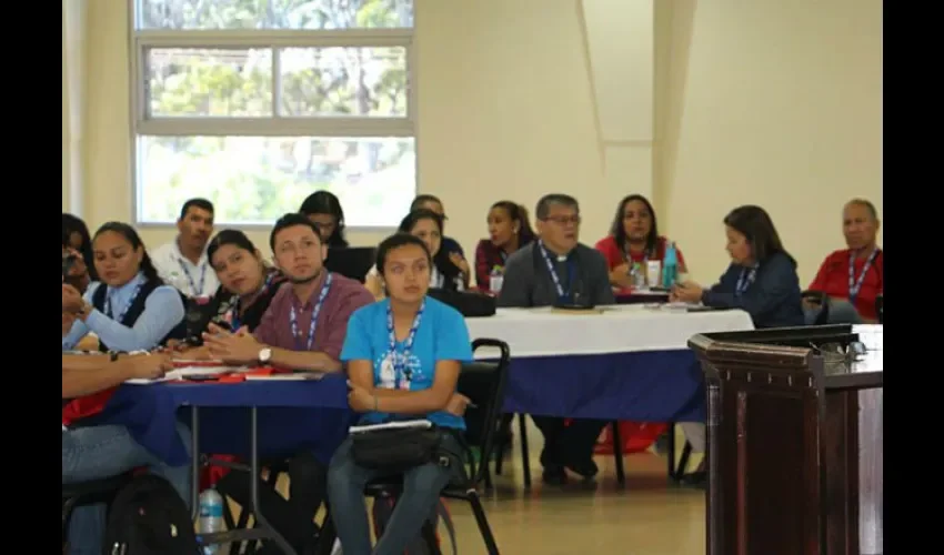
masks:
<path fill-rule="evenodd" d="M 485 542 L 486 553 L 489 555 L 498 555 L 499 547 L 495 543 L 495 537 L 492 534 L 492 528 L 489 525 L 489 521 L 485 517 L 485 508 L 484 506 L 482 506 L 482 500 L 479 497 L 478 488 L 479 486 L 483 485 L 483 483 L 488 480 L 489 461 L 491 458 L 492 452 L 495 450 L 495 435 L 498 433 L 499 426 L 501 425 L 502 405 L 504 404 L 505 384 L 508 383 L 508 371 L 511 362 L 511 350 L 509 349 L 508 343 L 492 339 L 476 339 L 472 342 L 473 352 L 478 351 L 480 347 L 494 347 L 501 351 L 501 356 L 499 357 L 499 361 L 496 363 L 474 362 L 471 364 L 464 364 L 462 366 L 463 373 L 489 372 L 494 375 L 494 380 L 491 384 L 491 395 L 484 407 L 485 422 L 488 423 L 488 425 L 485 426 L 485 431 L 482 434 L 481 462 L 476 465 L 471 453 L 468 453 L 468 458 L 470 462 L 469 475 L 472 477 L 465 478 L 461 483 L 449 484 L 442 491 L 442 497 L 445 497 L 448 500 L 464 501 L 472 506 L 472 513 L 475 515 L 475 522 L 479 525 L 479 532 L 482 534 L 482 539 Z M 402 476 L 399 476 L 395 480 L 378 480 L 368 484 L 366 488 L 364 490 L 364 495 L 374 498 L 396 498 L 400 495 L 402 487 Z M 334 524 L 332 523 L 330 515 L 331 500 L 328 501 L 329 514 L 327 514 L 324 517 L 322 536 L 319 539 L 319 554 L 330 553 L 331 546 L 333 545 L 334 538 L 337 537 Z M 430 552 L 434 554 L 441 553 L 435 542 L 434 531 L 432 531 L 430 526 L 424 526 L 422 534 L 423 537 L 426 539 L 426 544 L 430 547 Z"/>

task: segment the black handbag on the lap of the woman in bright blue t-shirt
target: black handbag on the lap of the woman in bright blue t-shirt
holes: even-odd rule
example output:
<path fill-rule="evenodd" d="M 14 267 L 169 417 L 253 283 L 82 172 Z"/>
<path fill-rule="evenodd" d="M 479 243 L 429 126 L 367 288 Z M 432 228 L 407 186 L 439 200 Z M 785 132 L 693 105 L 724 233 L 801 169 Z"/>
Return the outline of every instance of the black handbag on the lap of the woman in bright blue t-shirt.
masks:
<path fill-rule="evenodd" d="M 440 448 L 442 431 L 429 427 L 390 427 L 351 434 L 351 457 L 359 466 L 405 472 L 426 463 L 449 466 L 450 454 Z"/>

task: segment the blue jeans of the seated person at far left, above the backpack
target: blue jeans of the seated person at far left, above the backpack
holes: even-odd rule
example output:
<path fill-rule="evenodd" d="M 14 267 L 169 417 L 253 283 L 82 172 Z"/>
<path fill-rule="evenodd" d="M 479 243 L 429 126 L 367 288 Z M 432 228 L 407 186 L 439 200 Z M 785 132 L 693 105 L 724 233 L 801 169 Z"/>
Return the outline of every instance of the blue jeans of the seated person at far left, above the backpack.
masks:
<path fill-rule="evenodd" d="M 190 451 L 190 430 L 178 424 Z M 131 437 L 124 426 L 90 426 L 62 432 L 62 483 L 74 484 L 118 476 L 147 466 L 171 483 L 190 505 L 190 465 L 171 467 Z M 78 506 L 69 522 L 69 554 L 100 555 L 106 527 L 103 504 Z"/>

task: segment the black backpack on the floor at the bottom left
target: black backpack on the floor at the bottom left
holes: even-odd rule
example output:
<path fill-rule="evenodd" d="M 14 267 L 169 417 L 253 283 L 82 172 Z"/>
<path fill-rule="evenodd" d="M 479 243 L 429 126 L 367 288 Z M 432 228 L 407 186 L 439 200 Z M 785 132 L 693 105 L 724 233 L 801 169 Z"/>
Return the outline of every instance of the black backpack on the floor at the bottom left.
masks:
<path fill-rule="evenodd" d="M 104 555 L 199 555 L 187 504 L 170 482 L 135 476 L 116 495 L 108 514 Z"/>

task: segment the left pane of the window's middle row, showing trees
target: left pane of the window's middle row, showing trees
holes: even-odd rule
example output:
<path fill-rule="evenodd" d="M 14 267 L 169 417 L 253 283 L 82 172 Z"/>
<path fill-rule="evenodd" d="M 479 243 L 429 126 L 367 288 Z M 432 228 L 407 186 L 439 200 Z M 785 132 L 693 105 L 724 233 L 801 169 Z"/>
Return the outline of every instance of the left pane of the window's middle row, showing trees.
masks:
<path fill-rule="evenodd" d="M 148 107 L 154 118 L 272 114 L 272 51 L 148 50 Z"/>

